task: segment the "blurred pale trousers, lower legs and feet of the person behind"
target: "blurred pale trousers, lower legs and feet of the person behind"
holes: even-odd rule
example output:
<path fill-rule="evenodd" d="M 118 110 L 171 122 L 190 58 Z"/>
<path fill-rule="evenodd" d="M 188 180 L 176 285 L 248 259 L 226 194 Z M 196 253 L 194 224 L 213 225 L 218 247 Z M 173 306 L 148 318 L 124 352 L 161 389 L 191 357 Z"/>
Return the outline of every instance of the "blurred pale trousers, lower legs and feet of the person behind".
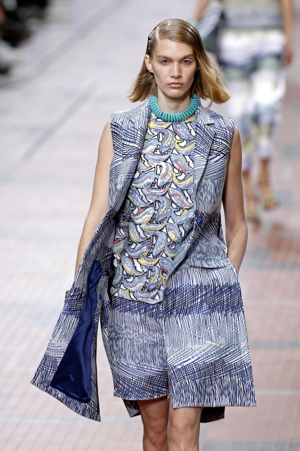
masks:
<path fill-rule="evenodd" d="M 254 152 L 260 161 L 260 199 L 265 209 L 278 205 L 269 180 L 269 163 L 276 144 L 285 93 L 282 69 L 284 35 L 280 30 L 225 30 L 220 35 L 219 64 L 233 97 L 226 114 L 235 121 L 242 141 L 242 174 L 246 217 L 259 219 L 256 183 L 251 172 Z"/>

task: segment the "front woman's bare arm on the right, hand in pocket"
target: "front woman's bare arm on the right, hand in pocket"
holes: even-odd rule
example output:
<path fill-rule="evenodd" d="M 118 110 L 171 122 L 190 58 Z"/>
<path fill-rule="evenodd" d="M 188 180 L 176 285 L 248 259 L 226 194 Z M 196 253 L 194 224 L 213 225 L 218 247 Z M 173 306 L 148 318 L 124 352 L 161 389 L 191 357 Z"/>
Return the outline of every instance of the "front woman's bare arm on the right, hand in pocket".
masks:
<path fill-rule="evenodd" d="M 242 185 L 242 144 L 237 127 L 234 127 L 222 201 L 228 258 L 238 273 L 246 251 L 248 228 Z"/>

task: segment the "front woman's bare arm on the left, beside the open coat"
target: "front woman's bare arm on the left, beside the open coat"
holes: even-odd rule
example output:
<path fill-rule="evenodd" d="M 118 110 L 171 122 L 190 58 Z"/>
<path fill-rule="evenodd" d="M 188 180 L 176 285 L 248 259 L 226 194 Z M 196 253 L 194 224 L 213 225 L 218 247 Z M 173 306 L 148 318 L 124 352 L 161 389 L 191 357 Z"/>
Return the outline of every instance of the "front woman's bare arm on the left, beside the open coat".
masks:
<path fill-rule="evenodd" d="M 109 209 L 109 170 L 112 162 L 113 150 L 112 132 L 110 121 L 108 121 L 104 126 L 99 142 L 92 200 L 79 242 L 75 276 L 85 249 L 94 235 L 94 231 Z"/>

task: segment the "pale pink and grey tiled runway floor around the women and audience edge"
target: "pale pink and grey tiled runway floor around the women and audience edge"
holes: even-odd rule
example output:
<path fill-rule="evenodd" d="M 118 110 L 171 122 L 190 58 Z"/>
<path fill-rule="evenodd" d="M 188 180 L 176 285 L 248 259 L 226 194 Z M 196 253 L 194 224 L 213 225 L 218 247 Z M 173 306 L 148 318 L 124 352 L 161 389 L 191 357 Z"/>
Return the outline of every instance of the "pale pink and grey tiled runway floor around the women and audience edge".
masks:
<path fill-rule="evenodd" d="M 101 338 L 100 423 L 68 410 L 30 380 L 73 281 L 103 126 L 112 111 L 131 106 L 126 91 L 148 32 L 164 18 L 190 16 L 179 0 L 171 14 L 169 2 L 157 0 L 61 4 L 68 17 L 40 28 L 9 81 L 0 81 L 0 450 L 138 451 L 141 418 L 130 418 L 113 396 Z M 261 212 L 260 226 L 249 225 L 239 273 L 257 407 L 227 407 L 224 420 L 201 424 L 205 451 L 300 450 L 299 47 L 295 51 L 272 165 L 281 206 Z"/>

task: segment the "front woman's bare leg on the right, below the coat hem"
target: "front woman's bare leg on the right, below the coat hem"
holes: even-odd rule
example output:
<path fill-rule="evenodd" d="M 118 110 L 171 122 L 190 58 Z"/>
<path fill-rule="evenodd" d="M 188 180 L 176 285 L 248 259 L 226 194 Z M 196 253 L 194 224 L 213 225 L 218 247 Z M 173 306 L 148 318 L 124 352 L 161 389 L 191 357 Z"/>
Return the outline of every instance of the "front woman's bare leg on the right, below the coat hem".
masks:
<path fill-rule="evenodd" d="M 167 437 L 169 451 L 199 451 L 202 407 L 172 408 L 170 396 Z"/>

